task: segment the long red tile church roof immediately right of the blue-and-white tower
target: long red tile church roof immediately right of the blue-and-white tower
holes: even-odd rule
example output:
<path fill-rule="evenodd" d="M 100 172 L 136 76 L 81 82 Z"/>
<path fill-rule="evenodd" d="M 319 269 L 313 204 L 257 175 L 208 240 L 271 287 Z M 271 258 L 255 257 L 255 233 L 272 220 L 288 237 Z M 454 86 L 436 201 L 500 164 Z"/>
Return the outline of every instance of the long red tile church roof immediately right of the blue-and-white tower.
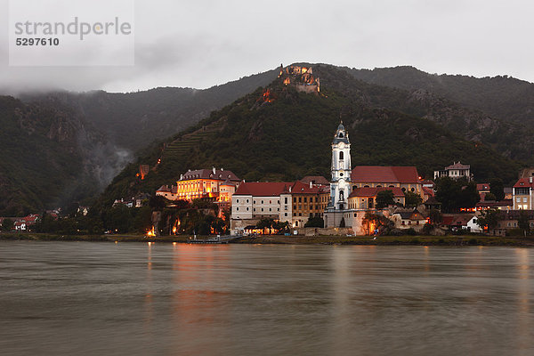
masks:
<path fill-rule="evenodd" d="M 415 166 L 355 166 L 352 182 L 369 183 L 419 183 Z"/>

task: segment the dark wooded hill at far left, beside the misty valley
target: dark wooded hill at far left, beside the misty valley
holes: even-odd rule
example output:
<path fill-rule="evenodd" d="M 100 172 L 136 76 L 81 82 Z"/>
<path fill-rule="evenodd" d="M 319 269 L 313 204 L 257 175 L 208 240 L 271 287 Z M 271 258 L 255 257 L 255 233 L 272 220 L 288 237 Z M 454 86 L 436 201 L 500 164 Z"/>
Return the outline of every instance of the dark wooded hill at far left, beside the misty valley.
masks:
<path fill-rule="evenodd" d="M 91 197 L 125 166 L 105 135 L 59 103 L 0 96 L 0 127 L 0 216 Z"/>

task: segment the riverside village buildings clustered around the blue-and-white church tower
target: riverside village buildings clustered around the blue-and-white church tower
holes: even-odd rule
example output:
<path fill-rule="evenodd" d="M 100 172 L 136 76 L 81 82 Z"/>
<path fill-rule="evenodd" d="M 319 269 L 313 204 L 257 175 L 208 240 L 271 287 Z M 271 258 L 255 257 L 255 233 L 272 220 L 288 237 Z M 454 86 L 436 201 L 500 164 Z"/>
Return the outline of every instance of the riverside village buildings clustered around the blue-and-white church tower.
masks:
<path fill-rule="evenodd" d="M 343 122 L 332 139 L 331 177 L 296 182 L 245 182 L 223 168 L 190 170 L 156 194 L 168 200 L 209 199 L 220 216 L 230 212 L 231 235 L 380 235 L 486 233 L 505 236 L 526 220 L 534 229 L 534 169 L 525 169 L 501 198 L 489 182 L 474 183 L 470 166 L 453 162 L 434 180 L 464 182 L 476 198 L 455 213 L 442 213 L 436 183 L 415 166 L 352 166 L 351 141 Z M 460 194 L 467 194 L 463 186 Z M 480 200 L 479 200 L 480 198 Z M 212 212 L 214 214 L 214 212 Z M 481 223 L 484 222 L 484 223 Z"/>

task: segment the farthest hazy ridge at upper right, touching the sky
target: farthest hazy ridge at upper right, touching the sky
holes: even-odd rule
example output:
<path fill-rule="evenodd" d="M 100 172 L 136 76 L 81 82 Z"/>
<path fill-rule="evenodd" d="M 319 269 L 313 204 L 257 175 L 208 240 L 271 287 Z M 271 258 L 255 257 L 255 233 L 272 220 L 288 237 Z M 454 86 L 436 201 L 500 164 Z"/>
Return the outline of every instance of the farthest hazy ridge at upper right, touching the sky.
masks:
<path fill-rule="evenodd" d="M 424 89 L 492 117 L 534 127 L 534 84 L 521 79 L 436 75 L 408 66 L 349 71 L 367 83 L 409 91 Z"/>

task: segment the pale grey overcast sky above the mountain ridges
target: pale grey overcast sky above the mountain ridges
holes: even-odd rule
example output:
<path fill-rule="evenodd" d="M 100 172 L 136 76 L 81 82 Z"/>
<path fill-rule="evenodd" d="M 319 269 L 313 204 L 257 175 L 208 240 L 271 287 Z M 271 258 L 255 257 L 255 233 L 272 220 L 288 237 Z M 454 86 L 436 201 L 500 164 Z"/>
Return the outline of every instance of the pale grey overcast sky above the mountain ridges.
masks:
<path fill-rule="evenodd" d="M 0 88 L 206 88 L 295 61 L 358 69 L 411 65 L 430 73 L 509 75 L 534 82 L 534 2 L 526 0 L 134 4 L 134 66 L 10 67 L 4 26 Z M 2 24 L 8 23 L 7 5 L 0 0 Z M 54 10 L 44 10 L 44 17 L 46 11 Z"/>

